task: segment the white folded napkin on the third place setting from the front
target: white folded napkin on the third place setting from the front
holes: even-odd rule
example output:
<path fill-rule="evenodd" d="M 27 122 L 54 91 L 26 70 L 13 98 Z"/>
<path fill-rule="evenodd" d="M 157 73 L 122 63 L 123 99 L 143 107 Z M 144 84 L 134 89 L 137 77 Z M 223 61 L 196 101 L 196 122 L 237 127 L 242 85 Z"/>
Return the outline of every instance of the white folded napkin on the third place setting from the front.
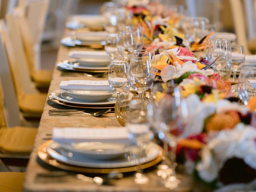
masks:
<path fill-rule="evenodd" d="M 70 51 L 68 56 L 72 58 L 110 59 L 106 51 Z"/>

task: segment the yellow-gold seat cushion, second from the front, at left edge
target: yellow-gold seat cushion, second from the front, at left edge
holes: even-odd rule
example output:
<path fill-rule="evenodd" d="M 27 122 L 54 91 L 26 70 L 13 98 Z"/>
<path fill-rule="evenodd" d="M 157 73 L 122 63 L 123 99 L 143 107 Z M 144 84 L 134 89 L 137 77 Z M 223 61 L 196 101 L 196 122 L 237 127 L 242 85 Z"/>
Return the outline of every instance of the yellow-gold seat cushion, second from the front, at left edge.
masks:
<path fill-rule="evenodd" d="M 37 128 L 13 127 L 0 129 L 0 151 L 12 154 L 30 154 Z"/>

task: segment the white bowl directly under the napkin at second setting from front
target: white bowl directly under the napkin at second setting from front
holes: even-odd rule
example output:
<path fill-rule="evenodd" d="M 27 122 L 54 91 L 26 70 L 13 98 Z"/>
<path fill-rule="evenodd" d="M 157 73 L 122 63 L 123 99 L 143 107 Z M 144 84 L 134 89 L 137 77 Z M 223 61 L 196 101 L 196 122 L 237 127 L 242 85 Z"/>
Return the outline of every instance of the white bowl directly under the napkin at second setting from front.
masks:
<path fill-rule="evenodd" d="M 103 101 L 110 98 L 115 92 L 114 91 L 84 91 L 84 90 L 68 90 L 60 89 L 63 92 L 68 93 L 75 99 L 85 100 L 89 102 Z"/>

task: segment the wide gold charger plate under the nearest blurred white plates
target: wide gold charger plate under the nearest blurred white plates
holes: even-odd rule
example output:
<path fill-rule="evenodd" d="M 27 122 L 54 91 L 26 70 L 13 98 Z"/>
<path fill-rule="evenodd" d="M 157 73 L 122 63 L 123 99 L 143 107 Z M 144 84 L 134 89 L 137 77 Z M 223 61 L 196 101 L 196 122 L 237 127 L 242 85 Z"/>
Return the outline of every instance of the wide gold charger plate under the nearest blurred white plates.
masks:
<path fill-rule="evenodd" d="M 51 166 L 63 169 L 63 170 L 68 170 L 68 171 L 74 171 L 74 172 L 83 172 L 83 173 L 97 173 L 97 174 L 108 174 L 112 171 L 118 171 L 120 173 L 125 173 L 125 172 L 132 172 L 132 171 L 137 171 L 138 166 L 132 166 L 132 167 L 124 167 L 124 168 L 86 168 L 86 167 L 81 167 L 81 166 L 73 166 L 69 164 L 62 163 L 54 158 L 52 158 L 47 152 L 46 152 L 46 147 L 52 142 L 52 140 L 49 140 L 47 142 L 44 142 L 42 145 L 38 147 L 37 154 L 38 157 L 45 162 L 46 164 L 50 164 Z M 159 155 L 153 160 L 148 163 L 142 164 L 141 168 L 146 169 L 149 167 L 152 167 L 156 164 L 158 164 L 160 161 L 162 161 L 164 151 L 161 150 L 159 151 Z"/>

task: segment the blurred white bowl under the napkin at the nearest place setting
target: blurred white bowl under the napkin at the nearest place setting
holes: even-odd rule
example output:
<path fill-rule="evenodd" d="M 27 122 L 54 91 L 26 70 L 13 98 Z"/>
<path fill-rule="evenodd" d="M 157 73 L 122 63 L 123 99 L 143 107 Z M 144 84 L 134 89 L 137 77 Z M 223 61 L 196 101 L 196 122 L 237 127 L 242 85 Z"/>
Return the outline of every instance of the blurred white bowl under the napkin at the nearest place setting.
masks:
<path fill-rule="evenodd" d="M 106 142 L 80 142 L 61 144 L 63 148 L 73 153 L 92 159 L 110 160 L 122 158 L 125 153 L 133 150 L 136 146 L 132 143 L 106 143 Z"/>

